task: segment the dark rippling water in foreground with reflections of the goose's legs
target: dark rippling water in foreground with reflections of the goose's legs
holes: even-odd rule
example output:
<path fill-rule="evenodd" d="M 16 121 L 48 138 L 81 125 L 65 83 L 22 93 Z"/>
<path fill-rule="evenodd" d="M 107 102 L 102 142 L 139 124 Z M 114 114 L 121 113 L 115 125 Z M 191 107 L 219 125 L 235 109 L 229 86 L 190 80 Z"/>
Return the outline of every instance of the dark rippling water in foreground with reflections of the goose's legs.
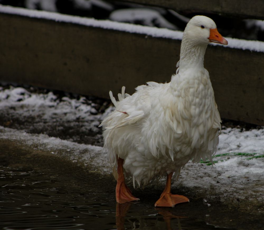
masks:
<path fill-rule="evenodd" d="M 84 191 L 25 166 L 2 164 L 0 187 L 0 226 L 5 230 L 224 229 L 179 212 L 189 204 L 174 209 L 154 208 L 148 200 L 116 204 L 106 189 L 100 193 L 87 184 Z"/>

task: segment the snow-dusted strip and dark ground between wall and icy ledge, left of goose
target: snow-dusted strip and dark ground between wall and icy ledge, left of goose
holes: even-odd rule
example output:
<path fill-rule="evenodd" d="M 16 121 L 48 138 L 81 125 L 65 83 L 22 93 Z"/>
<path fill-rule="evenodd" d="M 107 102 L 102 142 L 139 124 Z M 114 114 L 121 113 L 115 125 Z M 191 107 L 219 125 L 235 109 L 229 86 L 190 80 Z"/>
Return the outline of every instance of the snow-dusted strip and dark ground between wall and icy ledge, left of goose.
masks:
<path fill-rule="evenodd" d="M 0 125 L 78 143 L 102 145 L 98 125 L 105 116 L 101 111 L 107 105 L 107 102 L 97 104 L 83 96 L 70 99 L 62 95 L 59 98 L 53 92 L 0 88 Z"/>

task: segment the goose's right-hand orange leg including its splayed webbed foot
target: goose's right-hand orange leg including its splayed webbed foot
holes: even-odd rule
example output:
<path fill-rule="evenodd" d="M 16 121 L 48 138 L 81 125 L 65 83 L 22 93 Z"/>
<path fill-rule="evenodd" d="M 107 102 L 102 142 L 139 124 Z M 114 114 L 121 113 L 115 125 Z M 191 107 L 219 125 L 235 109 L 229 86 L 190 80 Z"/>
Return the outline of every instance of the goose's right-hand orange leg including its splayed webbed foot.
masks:
<path fill-rule="evenodd" d="M 174 207 L 175 204 L 189 202 L 189 199 L 182 195 L 171 194 L 171 178 L 172 174 L 167 174 L 167 183 L 161 197 L 155 203 L 155 207 Z"/>

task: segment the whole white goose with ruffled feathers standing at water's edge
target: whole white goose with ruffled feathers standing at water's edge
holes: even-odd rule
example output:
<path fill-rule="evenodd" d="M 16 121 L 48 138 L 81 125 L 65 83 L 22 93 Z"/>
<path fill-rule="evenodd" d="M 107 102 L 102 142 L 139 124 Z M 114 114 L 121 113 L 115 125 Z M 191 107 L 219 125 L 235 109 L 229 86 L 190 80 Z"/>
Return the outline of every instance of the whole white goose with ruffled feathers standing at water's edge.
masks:
<path fill-rule="evenodd" d="M 171 194 L 171 178 L 190 160 L 212 158 L 221 129 L 220 115 L 204 54 L 210 42 L 227 45 L 214 21 L 195 16 L 183 32 L 180 62 L 171 82 L 147 82 L 133 95 L 118 95 L 116 107 L 100 126 L 108 156 L 117 167 L 116 201 L 139 200 L 125 184 L 125 175 L 145 185 L 167 174 L 167 183 L 155 206 L 174 207 L 188 202 L 182 195 Z M 114 168 L 115 168 L 114 167 Z"/>

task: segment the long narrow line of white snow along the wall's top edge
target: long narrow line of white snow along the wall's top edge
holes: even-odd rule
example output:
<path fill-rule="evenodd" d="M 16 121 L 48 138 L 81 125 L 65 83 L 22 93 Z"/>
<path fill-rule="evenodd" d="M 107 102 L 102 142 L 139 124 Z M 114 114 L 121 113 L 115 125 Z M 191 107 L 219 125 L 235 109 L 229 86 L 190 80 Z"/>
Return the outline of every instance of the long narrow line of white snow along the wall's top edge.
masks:
<path fill-rule="evenodd" d="M 110 20 L 97 20 L 94 18 L 85 18 L 79 16 L 70 16 L 61 13 L 54 12 L 46 12 L 46 11 L 38 11 L 31 10 L 19 7 L 11 7 L 11 6 L 3 6 L 0 4 L 0 13 L 5 14 L 16 14 L 19 16 L 25 16 L 30 18 L 41 18 L 53 20 L 56 22 L 66 22 L 73 23 L 88 27 L 97 27 L 108 30 L 117 30 L 129 33 L 138 33 L 144 34 L 152 37 L 159 38 L 169 38 L 173 40 L 181 40 L 183 32 L 181 31 L 173 31 L 167 28 L 157 28 L 157 27 L 149 27 L 149 26 L 141 26 L 134 25 L 130 23 L 123 22 L 114 22 Z M 250 50 L 256 52 L 264 52 L 264 42 L 261 41 L 250 41 L 250 40 L 242 40 L 237 38 L 227 38 L 228 45 L 223 47 L 242 49 L 242 50 Z M 219 45 L 216 43 L 211 43 L 211 45 Z"/>

